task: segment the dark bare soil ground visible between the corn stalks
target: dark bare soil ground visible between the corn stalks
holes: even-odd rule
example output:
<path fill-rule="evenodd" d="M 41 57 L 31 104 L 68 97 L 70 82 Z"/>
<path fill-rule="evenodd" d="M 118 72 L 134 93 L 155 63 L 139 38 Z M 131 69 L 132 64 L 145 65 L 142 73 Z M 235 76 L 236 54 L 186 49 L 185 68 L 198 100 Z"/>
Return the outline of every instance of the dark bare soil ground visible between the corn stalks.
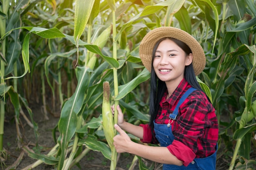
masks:
<path fill-rule="evenodd" d="M 56 115 L 48 114 L 49 120 L 45 120 L 43 116 L 43 109 L 40 105 L 31 106 L 31 110 L 34 114 L 34 121 L 38 124 L 39 131 L 39 146 L 41 148 L 40 153 L 47 154 L 49 150 L 55 145 L 52 137 L 52 129 L 57 125 L 59 117 Z M 18 149 L 17 142 L 17 130 L 15 119 L 13 115 L 6 115 L 4 122 L 4 149 L 9 153 L 9 157 L 4 163 L 7 166 L 11 166 L 22 153 L 22 149 Z M 20 116 L 20 133 L 23 136 L 23 146 L 28 146 L 33 149 L 35 146 L 35 135 L 34 130 L 27 124 L 22 116 Z M 57 136 L 58 137 L 58 136 Z M 225 145 L 223 145 L 225 146 Z M 220 151 L 225 150 L 225 148 L 219 148 Z M 222 152 L 223 153 L 223 152 Z M 230 157 L 217 153 L 217 166 L 216 170 L 227 170 L 228 164 L 230 162 Z M 128 170 L 134 155 L 128 153 L 122 153 L 119 155 L 117 170 Z M 34 163 L 36 159 L 30 158 L 27 153 L 24 153 L 24 156 L 18 166 L 17 170 L 22 170 L 23 168 L 29 166 L 31 163 Z M 151 164 L 152 162 L 144 160 L 146 164 Z M 109 170 L 110 161 L 106 159 L 100 152 L 90 151 L 81 161 L 79 161 L 81 170 Z M 155 165 L 157 169 L 162 169 L 161 164 Z M 15 169 L 15 168 L 14 168 Z M 40 164 L 34 170 L 53 170 L 54 167 L 47 164 Z M 138 162 L 136 163 L 134 170 L 139 170 Z M 72 170 L 80 170 L 78 166 L 74 166 Z"/>

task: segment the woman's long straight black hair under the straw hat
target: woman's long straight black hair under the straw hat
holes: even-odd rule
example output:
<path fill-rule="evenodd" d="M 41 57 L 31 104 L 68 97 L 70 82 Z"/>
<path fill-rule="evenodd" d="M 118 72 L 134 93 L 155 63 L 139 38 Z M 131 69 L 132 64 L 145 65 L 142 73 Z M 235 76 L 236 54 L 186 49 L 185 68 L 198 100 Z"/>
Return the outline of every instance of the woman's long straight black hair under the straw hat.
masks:
<path fill-rule="evenodd" d="M 192 53 L 189 46 L 187 46 L 184 42 L 182 42 L 178 39 L 175 39 L 175 38 L 171 38 L 171 37 L 162 38 L 155 44 L 155 47 L 153 48 L 152 61 L 151 61 L 150 99 L 149 99 L 149 114 L 150 114 L 149 126 L 151 127 L 152 133 L 153 133 L 153 129 L 154 129 L 153 121 L 155 120 L 155 118 L 157 116 L 158 109 L 159 109 L 159 103 L 162 99 L 164 92 L 166 92 L 166 89 L 167 89 L 165 82 L 161 81 L 157 77 L 157 75 L 155 74 L 155 70 L 153 68 L 155 52 L 156 52 L 157 47 L 160 44 L 160 42 L 162 42 L 164 39 L 171 39 L 172 41 L 174 41 L 175 44 L 177 44 L 180 48 L 182 48 L 182 50 L 184 50 L 184 52 L 187 55 Z M 192 87 L 202 90 L 198 81 L 196 80 L 192 63 L 190 65 L 185 66 L 184 78 Z"/>

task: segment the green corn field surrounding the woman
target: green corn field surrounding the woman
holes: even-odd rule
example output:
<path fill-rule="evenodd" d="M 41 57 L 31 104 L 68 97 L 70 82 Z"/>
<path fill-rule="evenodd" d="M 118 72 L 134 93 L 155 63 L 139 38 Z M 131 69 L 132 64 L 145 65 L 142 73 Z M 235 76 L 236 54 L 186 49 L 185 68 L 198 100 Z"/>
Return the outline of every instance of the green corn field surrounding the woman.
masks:
<path fill-rule="evenodd" d="M 229 170 L 255 169 L 255 0 L 0 0 L 1 168 L 19 169 L 20 162 L 5 163 L 8 115 L 17 127 L 17 149 L 35 159 L 24 170 L 40 164 L 72 169 L 90 150 L 101 152 L 115 170 L 117 113 L 112 118 L 110 105 L 120 105 L 132 124 L 149 121 L 150 73 L 139 44 L 160 26 L 181 28 L 204 49 L 207 63 L 198 81 L 218 117 L 217 161 L 225 157 Z M 60 114 L 56 145 L 47 155 L 22 143 L 20 117 L 39 147 L 33 102 L 42 105 L 44 120 L 49 110 Z M 154 169 L 134 157 L 140 170 Z"/>

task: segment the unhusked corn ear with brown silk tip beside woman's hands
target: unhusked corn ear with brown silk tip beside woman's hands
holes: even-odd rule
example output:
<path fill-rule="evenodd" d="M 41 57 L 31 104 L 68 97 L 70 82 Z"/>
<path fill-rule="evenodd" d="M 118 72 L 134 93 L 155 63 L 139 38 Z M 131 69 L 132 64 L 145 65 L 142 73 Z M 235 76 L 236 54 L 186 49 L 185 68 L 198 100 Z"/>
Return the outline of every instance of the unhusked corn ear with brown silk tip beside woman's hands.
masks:
<path fill-rule="evenodd" d="M 115 129 L 109 98 L 110 86 L 109 82 L 105 81 L 103 82 L 102 126 L 108 145 L 110 146 L 110 149 L 113 150 L 113 137 L 115 136 Z"/>

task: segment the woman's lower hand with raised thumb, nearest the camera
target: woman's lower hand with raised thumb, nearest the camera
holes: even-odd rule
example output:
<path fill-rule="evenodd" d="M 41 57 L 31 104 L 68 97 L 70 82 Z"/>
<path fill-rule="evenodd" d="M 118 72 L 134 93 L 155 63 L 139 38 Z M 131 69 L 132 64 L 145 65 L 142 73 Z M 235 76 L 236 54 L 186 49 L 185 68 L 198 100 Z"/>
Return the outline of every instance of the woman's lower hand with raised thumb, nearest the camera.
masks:
<path fill-rule="evenodd" d="M 130 146 L 130 142 L 132 142 L 130 137 L 117 124 L 115 124 L 114 127 L 119 133 L 113 138 L 114 139 L 113 144 L 117 150 L 117 153 L 128 152 L 127 148 L 128 146 Z"/>

